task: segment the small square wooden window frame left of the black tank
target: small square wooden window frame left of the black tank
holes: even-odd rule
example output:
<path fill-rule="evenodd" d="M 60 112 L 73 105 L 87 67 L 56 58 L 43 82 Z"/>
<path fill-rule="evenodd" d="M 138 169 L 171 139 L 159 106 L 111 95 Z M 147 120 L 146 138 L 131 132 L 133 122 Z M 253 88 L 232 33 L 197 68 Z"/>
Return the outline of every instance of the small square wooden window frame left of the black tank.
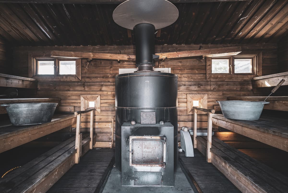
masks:
<path fill-rule="evenodd" d="M 89 101 L 94 101 L 95 111 L 94 114 L 101 114 L 101 95 L 100 94 L 85 94 L 80 95 L 81 111 L 91 108 L 89 107 Z"/>

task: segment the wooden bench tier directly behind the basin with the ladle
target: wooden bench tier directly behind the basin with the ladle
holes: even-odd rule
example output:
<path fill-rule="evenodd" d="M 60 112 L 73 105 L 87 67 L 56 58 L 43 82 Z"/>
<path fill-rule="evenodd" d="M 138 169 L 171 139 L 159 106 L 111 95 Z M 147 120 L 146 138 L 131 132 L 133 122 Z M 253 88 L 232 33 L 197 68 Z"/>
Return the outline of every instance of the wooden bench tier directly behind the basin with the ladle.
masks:
<path fill-rule="evenodd" d="M 286 82 L 286 81 L 285 81 Z M 228 97 L 228 100 L 241 100 L 241 101 L 264 101 L 266 96 L 233 96 Z M 269 96 L 266 100 L 270 102 L 264 105 L 264 109 L 288 111 L 288 96 Z"/>

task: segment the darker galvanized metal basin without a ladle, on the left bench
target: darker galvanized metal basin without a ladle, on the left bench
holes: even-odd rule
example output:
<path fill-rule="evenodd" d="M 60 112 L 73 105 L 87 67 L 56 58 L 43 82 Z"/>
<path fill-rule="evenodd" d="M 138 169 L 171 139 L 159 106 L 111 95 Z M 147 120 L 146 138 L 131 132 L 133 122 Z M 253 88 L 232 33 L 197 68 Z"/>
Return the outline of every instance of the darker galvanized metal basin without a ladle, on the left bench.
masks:
<path fill-rule="evenodd" d="M 6 107 L 12 125 L 35 125 L 50 122 L 58 103 L 9 103 Z"/>

